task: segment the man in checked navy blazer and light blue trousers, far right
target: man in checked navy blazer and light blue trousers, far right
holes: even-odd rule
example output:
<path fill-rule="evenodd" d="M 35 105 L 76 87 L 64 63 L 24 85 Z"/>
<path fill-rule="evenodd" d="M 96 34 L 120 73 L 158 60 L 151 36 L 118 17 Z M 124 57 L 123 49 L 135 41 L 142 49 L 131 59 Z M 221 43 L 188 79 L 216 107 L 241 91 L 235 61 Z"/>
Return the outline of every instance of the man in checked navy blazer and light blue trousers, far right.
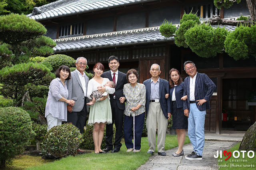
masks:
<path fill-rule="evenodd" d="M 188 99 L 184 101 L 183 109 L 188 117 L 188 137 L 193 146 L 193 152 L 186 155 L 186 159 L 202 160 L 206 109 L 210 109 L 216 85 L 206 74 L 198 73 L 192 61 L 184 63 L 184 70 L 189 76 L 184 80 L 184 96 L 188 95 Z"/>

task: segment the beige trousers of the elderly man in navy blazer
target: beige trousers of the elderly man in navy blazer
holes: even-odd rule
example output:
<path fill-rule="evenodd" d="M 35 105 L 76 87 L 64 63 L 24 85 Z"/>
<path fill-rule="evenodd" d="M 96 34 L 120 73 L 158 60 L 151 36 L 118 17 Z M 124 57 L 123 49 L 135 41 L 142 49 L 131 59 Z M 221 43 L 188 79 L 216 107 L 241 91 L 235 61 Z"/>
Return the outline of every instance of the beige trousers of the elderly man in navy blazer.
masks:
<path fill-rule="evenodd" d="M 161 105 L 158 102 L 149 103 L 149 109 L 146 120 L 146 127 L 148 130 L 148 151 L 155 152 L 156 149 L 156 127 L 157 127 L 157 150 L 164 152 L 164 143 L 166 137 L 166 129 L 168 120 L 164 117 Z"/>

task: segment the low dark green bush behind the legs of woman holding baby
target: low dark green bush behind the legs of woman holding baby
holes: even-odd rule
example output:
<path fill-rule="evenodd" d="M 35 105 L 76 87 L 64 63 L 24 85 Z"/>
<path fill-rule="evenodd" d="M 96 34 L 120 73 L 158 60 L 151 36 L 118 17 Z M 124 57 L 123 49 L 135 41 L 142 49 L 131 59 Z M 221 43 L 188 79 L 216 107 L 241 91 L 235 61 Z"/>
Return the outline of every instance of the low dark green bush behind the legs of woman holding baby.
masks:
<path fill-rule="evenodd" d="M 92 138 L 92 132 L 93 132 L 93 126 L 89 126 L 87 125 L 88 121 L 86 122 L 86 130 L 83 133 L 83 139 L 84 142 L 81 143 L 81 148 L 83 149 L 88 149 L 88 150 L 94 150 L 94 142 L 93 142 L 93 138 Z M 115 140 L 115 134 L 116 134 L 116 126 L 113 125 L 113 138 L 112 140 Z M 104 135 L 106 136 L 106 127 L 104 128 Z M 105 148 L 106 146 L 106 138 L 103 137 L 102 143 L 101 143 L 101 148 Z"/>

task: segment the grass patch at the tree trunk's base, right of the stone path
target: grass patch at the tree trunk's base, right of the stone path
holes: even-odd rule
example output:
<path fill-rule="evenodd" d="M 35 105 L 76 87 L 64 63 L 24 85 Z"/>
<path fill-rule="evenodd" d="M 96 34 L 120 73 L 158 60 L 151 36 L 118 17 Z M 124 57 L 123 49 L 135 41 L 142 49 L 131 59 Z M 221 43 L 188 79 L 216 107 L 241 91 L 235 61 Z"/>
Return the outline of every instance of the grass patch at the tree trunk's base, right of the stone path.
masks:
<path fill-rule="evenodd" d="M 240 143 L 236 144 L 234 147 L 227 150 L 227 152 L 231 152 L 232 155 L 228 160 L 225 160 L 227 156 L 224 156 L 222 153 L 222 158 L 218 158 L 218 166 L 222 170 L 248 170 L 248 169 L 256 169 L 256 155 L 254 158 L 248 158 L 247 152 L 244 154 L 244 158 L 242 158 L 242 153 L 240 152 L 239 158 L 233 157 L 234 150 L 238 150 Z M 223 152 L 223 151 L 222 151 Z M 237 156 L 237 154 L 235 154 Z M 252 153 L 250 153 L 252 156 Z M 245 161 L 245 162 L 234 162 L 234 161 Z M 226 166 L 226 167 L 225 167 Z"/>

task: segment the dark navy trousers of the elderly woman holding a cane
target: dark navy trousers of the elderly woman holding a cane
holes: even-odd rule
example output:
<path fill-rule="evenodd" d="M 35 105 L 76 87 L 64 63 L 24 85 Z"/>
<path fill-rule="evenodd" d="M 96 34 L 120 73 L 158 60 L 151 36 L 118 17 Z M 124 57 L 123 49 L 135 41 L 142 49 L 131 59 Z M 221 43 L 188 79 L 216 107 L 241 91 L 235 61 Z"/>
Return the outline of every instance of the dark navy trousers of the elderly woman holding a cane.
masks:
<path fill-rule="evenodd" d="M 139 150 L 144 126 L 145 112 L 135 116 L 135 149 Z M 124 142 L 127 149 L 133 148 L 133 117 L 124 115 Z"/>

